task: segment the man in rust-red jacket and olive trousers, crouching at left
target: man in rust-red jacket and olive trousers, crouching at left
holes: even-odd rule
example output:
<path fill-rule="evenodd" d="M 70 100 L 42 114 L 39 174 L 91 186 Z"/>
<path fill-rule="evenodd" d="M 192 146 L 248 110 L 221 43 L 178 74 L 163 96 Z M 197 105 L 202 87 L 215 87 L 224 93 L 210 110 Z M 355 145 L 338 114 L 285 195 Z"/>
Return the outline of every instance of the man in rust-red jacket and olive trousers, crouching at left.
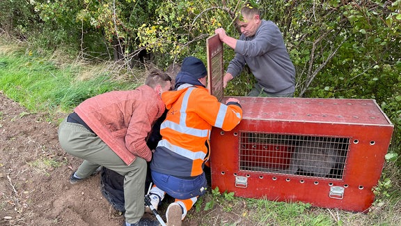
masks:
<path fill-rule="evenodd" d="M 100 167 L 125 177 L 125 225 L 146 225 L 143 216 L 147 164 L 152 151 L 146 137 L 166 109 L 162 93 L 171 77 L 153 71 L 145 85 L 131 91 L 111 91 L 88 98 L 58 128 L 61 147 L 84 159 L 70 183 L 78 183 Z"/>

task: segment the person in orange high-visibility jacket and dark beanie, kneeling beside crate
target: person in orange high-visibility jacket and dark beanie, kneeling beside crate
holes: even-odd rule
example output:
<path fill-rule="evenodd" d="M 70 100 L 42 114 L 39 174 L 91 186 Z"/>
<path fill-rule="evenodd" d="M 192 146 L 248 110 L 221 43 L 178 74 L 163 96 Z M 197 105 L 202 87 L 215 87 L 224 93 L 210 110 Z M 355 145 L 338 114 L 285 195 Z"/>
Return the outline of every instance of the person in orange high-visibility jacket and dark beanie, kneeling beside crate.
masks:
<path fill-rule="evenodd" d="M 239 101 L 229 98 L 226 105 L 219 103 L 205 88 L 206 75 L 200 59 L 186 57 L 175 78 L 175 90 L 162 94 L 168 113 L 150 163 L 155 183 L 150 199 L 157 209 L 165 193 L 175 198 L 166 211 L 170 226 L 181 225 L 198 196 L 205 193 L 203 167 L 210 156 L 212 126 L 229 131 L 242 120 Z"/>

